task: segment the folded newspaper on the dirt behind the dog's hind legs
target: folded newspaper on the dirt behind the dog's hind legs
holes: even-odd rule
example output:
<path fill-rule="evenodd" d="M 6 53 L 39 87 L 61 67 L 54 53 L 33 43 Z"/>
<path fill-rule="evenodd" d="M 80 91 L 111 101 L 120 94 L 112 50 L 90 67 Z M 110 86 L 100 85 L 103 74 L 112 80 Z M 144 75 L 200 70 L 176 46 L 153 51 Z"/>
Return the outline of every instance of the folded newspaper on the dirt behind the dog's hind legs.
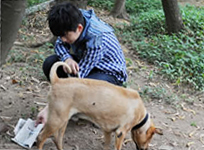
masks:
<path fill-rule="evenodd" d="M 31 148 L 42 128 L 43 124 L 35 127 L 35 121 L 32 119 L 20 118 L 14 129 L 15 137 L 12 138 L 12 141 L 24 148 Z"/>

